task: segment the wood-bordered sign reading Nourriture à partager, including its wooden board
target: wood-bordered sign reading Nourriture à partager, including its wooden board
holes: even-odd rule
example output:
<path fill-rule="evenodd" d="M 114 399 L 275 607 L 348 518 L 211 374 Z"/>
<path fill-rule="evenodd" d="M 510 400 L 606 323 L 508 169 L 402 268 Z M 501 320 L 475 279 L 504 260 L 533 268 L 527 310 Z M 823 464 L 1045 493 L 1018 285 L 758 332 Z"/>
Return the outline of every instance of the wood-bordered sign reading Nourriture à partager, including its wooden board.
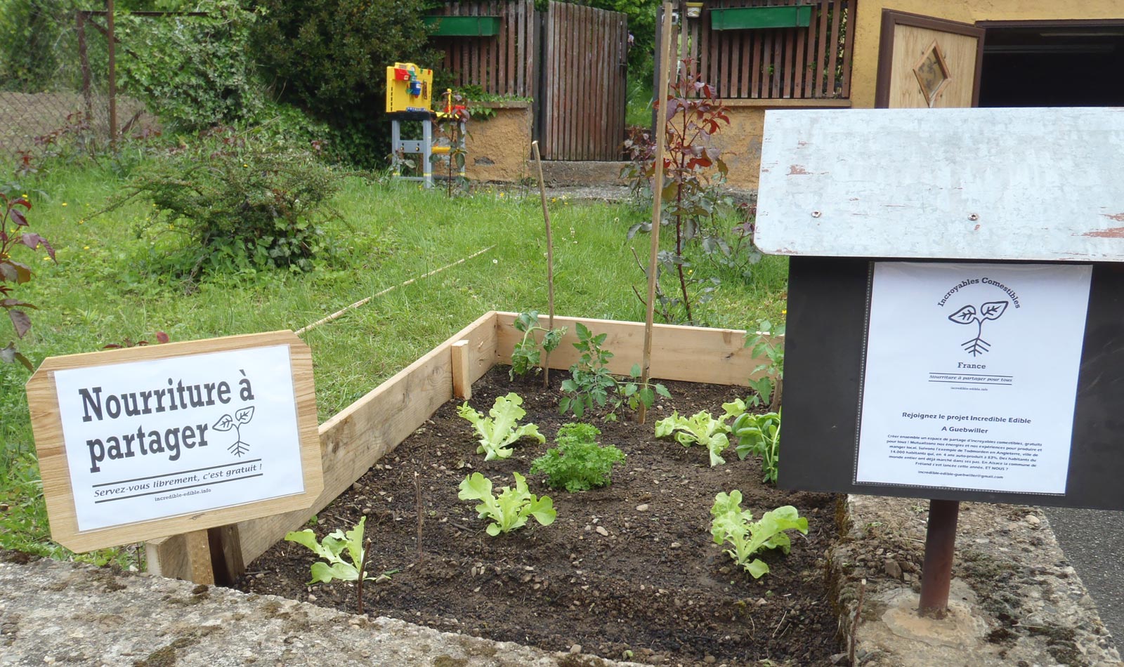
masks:
<path fill-rule="evenodd" d="M 291 331 L 51 357 L 27 382 L 51 536 L 75 551 L 311 506 L 312 358 Z"/>

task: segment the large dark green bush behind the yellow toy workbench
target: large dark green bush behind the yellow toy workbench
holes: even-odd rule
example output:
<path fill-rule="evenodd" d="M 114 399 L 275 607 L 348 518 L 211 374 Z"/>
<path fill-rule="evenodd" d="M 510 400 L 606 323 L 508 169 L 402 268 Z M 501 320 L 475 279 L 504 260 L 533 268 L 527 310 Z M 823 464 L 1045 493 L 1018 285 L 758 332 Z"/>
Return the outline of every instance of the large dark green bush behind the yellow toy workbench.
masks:
<path fill-rule="evenodd" d="M 252 53 L 281 100 L 327 121 L 336 148 L 362 166 L 382 164 L 390 127 L 386 67 L 439 62 L 428 47 L 423 2 L 259 0 Z"/>

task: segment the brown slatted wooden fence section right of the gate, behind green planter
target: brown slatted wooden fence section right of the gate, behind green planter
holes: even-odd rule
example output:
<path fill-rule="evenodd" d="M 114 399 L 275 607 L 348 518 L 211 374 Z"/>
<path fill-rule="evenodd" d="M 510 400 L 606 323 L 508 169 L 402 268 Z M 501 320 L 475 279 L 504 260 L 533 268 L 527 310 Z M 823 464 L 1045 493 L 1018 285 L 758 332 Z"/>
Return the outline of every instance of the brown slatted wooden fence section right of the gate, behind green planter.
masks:
<path fill-rule="evenodd" d="M 858 0 L 711 0 L 681 21 L 692 72 L 724 99 L 833 99 L 851 95 Z M 812 6 L 800 28 L 711 30 L 710 12 L 741 7 Z"/>

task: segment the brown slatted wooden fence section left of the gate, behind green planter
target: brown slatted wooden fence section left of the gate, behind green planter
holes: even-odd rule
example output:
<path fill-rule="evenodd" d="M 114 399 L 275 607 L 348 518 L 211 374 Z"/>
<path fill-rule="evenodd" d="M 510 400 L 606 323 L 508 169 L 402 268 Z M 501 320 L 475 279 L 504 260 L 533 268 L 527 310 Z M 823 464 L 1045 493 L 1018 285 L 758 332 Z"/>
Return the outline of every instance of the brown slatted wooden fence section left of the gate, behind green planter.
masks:
<path fill-rule="evenodd" d="M 534 0 L 446 2 L 434 13 L 500 17 L 496 36 L 433 37 L 457 85 L 479 85 L 493 95 L 536 97 L 541 20 Z"/>

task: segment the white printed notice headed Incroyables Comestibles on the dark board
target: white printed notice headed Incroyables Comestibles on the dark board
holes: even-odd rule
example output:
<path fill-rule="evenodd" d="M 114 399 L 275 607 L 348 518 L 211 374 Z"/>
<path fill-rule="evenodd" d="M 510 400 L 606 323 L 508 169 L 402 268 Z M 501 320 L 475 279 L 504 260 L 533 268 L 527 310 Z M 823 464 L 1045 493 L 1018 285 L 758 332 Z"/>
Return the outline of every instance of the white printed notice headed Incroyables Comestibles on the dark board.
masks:
<path fill-rule="evenodd" d="M 876 263 L 855 483 L 1064 494 L 1090 276 Z"/>

